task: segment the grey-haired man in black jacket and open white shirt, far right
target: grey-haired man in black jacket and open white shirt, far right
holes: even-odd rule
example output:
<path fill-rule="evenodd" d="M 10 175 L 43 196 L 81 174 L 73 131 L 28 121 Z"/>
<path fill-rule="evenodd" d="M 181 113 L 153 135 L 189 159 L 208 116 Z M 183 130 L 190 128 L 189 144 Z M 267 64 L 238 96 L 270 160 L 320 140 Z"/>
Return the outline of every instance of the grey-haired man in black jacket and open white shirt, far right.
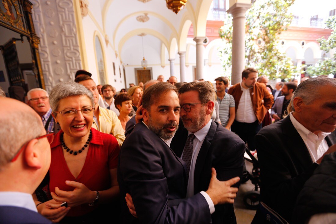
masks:
<path fill-rule="evenodd" d="M 324 155 L 335 150 L 336 80 L 311 78 L 302 82 L 292 100 L 293 112 L 256 136 L 260 163 L 260 197 L 291 223 L 293 207 L 304 183 Z M 257 211 L 252 223 L 266 223 Z"/>

